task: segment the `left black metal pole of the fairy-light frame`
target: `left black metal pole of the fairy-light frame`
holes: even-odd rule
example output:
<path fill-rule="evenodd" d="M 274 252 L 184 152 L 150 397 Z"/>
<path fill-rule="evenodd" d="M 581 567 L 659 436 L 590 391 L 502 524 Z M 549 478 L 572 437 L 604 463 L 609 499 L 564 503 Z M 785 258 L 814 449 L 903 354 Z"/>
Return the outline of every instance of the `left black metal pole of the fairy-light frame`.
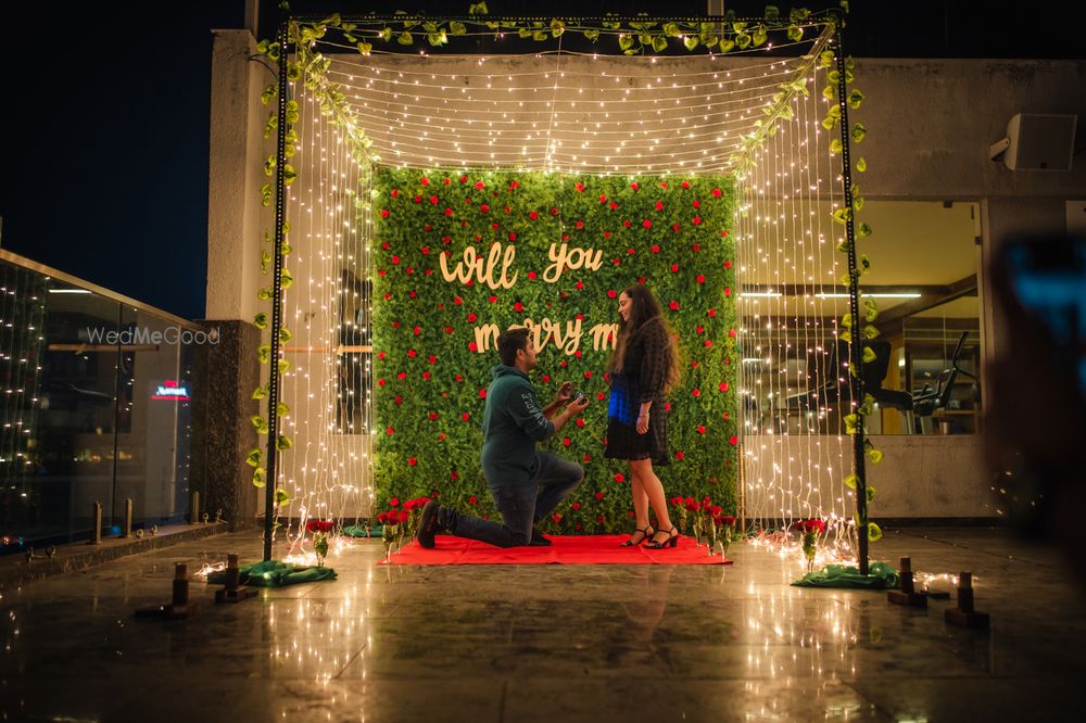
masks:
<path fill-rule="evenodd" d="M 282 325 L 282 230 L 287 215 L 287 182 L 283 168 L 287 165 L 287 27 L 289 21 L 279 25 L 276 45 L 279 46 L 279 106 L 276 127 L 275 150 L 275 258 L 272 276 L 272 356 L 268 370 L 268 444 L 267 475 L 264 486 L 264 560 L 272 559 L 273 518 L 275 516 L 276 487 L 276 441 L 278 439 L 279 416 L 279 328 Z"/>

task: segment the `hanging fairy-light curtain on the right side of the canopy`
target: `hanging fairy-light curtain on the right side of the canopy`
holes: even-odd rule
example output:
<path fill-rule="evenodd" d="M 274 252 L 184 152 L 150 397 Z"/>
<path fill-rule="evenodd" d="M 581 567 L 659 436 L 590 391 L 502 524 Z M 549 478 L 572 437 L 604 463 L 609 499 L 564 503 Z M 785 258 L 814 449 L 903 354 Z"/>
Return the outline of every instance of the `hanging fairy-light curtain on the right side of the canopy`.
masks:
<path fill-rule="evenodd" d="M 775 122 L 738 185 L 745 491 L 747 516 L 762 529 L 829 522 L 821 555 L 832 560 L 853 554 L 854 500 L 843 483 L 851 441 L 841 417 L 855 404 L 837 342 L 847 309 L 828 299 L 844 271 L 844 227 L 832 221 L 841 156 L 821 125 L 829 101 L 815 92 L 824 73 L 812 71 L 808 85 L 811 98 L 797 97 L 792 118 Z"/>

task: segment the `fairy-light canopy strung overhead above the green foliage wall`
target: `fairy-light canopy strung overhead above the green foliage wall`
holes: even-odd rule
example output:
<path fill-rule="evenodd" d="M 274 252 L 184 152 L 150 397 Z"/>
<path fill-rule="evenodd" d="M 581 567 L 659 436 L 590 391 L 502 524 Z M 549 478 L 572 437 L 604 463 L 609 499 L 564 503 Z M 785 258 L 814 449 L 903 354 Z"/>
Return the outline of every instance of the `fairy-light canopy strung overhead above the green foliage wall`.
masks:
<path fill-rule="evenodd" d="M 800 63 L 560 58 L 556 71 L 556 58 L 543 54 L 484 62 L 354 55 L 333 59 L 329 73 L 392 165 L 720 173 Z M 515 72 L 506 72 L 510 64 Z"/>

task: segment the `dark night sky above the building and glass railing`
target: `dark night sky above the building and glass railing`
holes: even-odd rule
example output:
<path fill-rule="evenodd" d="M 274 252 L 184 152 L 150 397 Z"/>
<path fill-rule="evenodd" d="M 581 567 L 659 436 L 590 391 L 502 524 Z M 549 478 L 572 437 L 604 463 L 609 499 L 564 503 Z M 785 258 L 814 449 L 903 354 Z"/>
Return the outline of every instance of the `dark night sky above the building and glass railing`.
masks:
<path fill-rule="evenodd" d="M 263 2 L 262 31 L 276 2 Z M 464 14 L 469 2 L 299 2 L 304 12 L 362 8 Z M 648 11 L 698 15 L 705 2 L 513 2 L 492 14 Z M 805 3 L 808 8 L 826 3 Z M 834 3 L 835 4 L 835 3 Z M 855 55 L 1083 58 L 1070 16 L 994 16 L 989 3 L 855 0 Z M 146 8 L 168 10 L 149 16 Z M 761 14 L 763 3 L 728 3 Z M 790 7 L 779 3 L 783 12 Z M 0 245 L 187 318 L 204 310 L 211 29 L 241 27 L 241 0 L 73 3 L 28 22 L 0 11 L 7 58 L 0 129 Z M 17 20 L 15 16 L 17 12 Z M 16 69 L 17 68 L 17 69 Z M 258 202 L 258 201 L 257 201 Z M 254 263 L 256 263 L 254 261 Z"/>

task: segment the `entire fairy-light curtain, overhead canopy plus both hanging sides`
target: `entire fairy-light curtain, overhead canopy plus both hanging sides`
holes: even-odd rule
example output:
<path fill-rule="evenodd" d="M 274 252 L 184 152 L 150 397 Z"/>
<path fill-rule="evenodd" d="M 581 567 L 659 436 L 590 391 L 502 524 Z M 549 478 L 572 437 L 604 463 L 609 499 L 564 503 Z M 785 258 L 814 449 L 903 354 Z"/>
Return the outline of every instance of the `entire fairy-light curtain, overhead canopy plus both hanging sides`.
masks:
<path fill-rule="evenodd" d="M 316 50 L 382 164 L 735 174 L 740 283 L 704 293 L 740 295 L 744 502 L 748 519 L 775 527 L 847 519 L 853 509 L 839 481 L 850 471 L 848 445 L 835 421 L 850 401 L 843 391 L 828 404 L 821 392 L 839 375 L 833 318 L 842 310 L 833 299 L 841 231 L 830 215 L 841 162 L 830 152 L 834 132 L 820 126 L 831 101 L 813 62 L 830 40 L 812 34 L 790 58 L 363 56 L 320 41 Z M 302 81 L 291 88 L 300 180 L 288 199 L 294 277 L 285 318 L 294 335 L 283 401 L 294 444 L 281 453 L 277 483 L 291 499 L 286 515 L 304 523 L 366 516 L 375 498 L 365 328 L 372 224 L 368 181 L 343 129 Z"/>

